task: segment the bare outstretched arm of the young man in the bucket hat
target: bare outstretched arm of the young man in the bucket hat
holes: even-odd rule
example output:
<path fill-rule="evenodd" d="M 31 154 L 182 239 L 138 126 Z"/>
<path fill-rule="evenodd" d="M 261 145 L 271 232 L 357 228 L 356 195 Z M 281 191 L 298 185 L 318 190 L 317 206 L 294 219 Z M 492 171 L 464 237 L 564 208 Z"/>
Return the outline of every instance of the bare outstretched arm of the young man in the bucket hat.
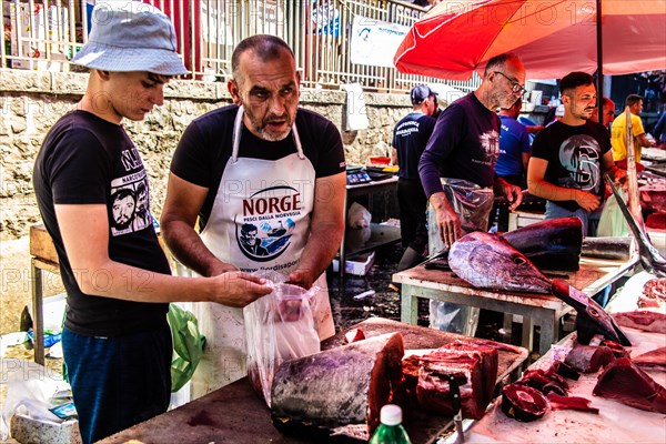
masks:
<path fill-rule="evenodd" d="M 178 278 L 142 270 L 109 258 L 104 204 L 56 204 L 56 216 L 77 283 L 91 296 L 138 302 L 211 301 L 242 307 L 271 289 L 245 273 Z M 81 221 L 87 221 L 81 230 Z"/>

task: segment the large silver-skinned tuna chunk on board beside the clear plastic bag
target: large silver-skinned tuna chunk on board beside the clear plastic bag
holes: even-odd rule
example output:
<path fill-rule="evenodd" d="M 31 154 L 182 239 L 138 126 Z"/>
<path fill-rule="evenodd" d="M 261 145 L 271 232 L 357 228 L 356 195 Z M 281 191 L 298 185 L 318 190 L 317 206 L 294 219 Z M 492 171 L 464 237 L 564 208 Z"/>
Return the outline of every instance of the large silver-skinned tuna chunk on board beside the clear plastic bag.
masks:
<path fill-rule="evenodd" d="M 369 440 L 402 379 L 403 355 L 402 335 L 387 333 L 283 362 L 273 376 L 273 425 L 286 434 Z"/>

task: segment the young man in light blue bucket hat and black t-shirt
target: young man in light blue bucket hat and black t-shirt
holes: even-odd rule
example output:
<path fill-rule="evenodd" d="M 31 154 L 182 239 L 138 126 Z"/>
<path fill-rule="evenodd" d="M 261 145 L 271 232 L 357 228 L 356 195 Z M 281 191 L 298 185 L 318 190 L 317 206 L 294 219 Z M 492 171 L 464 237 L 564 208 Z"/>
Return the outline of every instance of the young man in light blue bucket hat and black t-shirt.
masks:
<path fill-rule="evenodd" d="M 138 215 L 148 175 L 121 122 L 142 120 L 163 103 L 169 79 L 186 72 L 173 26 L 131 1 L 98 1 L 92 19 L 72 60 L 90 68 L 88 89 L 47 134 L 33 173 L 68 293 L 62 344 L 83 443 L 167 411 L 169 302 L 244 306 L 270 293 L 241 272 L 171 275 L 151 218 Z"/>

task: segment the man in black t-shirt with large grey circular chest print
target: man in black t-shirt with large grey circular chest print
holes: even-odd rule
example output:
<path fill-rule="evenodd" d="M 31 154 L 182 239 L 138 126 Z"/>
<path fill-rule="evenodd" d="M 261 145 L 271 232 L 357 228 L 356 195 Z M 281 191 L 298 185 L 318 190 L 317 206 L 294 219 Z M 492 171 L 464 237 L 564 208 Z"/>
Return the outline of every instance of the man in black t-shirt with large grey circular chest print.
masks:
<path fill-rule="evenodd" d="M 592 75 L 572 72 L 559 82 L 564 115 L 532 144 L 529 193 L 547 199 L 546 219 L 577 216 L 583 235 L 594 236 L 604 203 L 604 173 L 626 176 L 613 163 L 608 131 L 589 120 L 596 104 Z"/>

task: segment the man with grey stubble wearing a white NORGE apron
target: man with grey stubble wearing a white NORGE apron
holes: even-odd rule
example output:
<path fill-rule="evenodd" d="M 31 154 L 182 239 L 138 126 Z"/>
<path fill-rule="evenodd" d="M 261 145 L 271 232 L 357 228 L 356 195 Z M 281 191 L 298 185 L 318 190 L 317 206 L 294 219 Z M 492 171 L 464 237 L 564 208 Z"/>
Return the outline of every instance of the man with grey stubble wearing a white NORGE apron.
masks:
<path fill-rule="evenodd" d="M 325 269 L 344 232 L 345 162 L 339 130 L 299 109 L 300 75 L 279 38 L 254 36 L 232 56 L 234 105 L 185 130 L 174 153 L 162 233 L 199 274 L 270 270 L 317 291 L 320 339 L 335 333 Z M 194 230 L 199 216 L 198 234 Z M 195 304 L 206 350 L 192 396 L 246 375 L 242 307 Z"/>

